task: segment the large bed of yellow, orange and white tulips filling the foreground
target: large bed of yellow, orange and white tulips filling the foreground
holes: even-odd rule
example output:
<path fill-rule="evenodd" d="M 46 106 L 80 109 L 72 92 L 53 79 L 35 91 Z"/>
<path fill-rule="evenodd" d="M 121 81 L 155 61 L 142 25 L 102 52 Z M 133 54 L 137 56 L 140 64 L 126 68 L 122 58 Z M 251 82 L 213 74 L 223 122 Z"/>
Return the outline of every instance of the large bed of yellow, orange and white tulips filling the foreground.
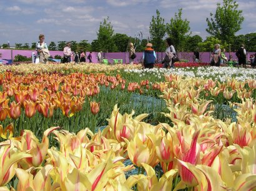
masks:
<path fill-rule="evenodd" d="M 0 73 L 0 190 L 255 189 L 250 70 L 33 67 Z"/>

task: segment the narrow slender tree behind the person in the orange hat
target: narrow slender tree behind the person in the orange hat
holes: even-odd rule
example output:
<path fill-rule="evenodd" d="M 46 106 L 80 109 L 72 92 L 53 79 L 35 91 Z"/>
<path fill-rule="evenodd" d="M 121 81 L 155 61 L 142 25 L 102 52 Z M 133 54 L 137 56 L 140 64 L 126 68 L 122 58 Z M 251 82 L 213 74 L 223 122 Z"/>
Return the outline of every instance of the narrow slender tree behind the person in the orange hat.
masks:
<path fill-rule="evenodd" d="M 157 17 L 152 16 L 152 20 L 149 25 L 149 34 L 154 49 L 159 52 L 162 50 L 162 45 L 164 44 L 164 35 L 166 27 L 164 24 L 164 19 L 160 17 L 160 12 L 157 10 Z M 158 59 L 158 54 L 157 54 Z"/>

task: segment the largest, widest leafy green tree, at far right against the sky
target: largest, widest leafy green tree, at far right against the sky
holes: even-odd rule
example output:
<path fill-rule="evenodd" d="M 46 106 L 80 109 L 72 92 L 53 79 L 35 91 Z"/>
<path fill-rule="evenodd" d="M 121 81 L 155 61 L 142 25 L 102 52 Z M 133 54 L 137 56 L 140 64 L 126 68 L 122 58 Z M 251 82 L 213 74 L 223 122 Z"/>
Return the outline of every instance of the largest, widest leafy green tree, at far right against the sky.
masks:
<path fill-rule="evenodd" d="M 206 31 L 222 42 L 232 44 L 235 33 L 241 29 L 244 21 L 242 10 L 237 10 L 238 7 L 239 4 L 234 0 L 223 0 L 223 6 L 217 3 L 215 15 L 211 12 L 211 18 L 206 19 L 208 26 Z"/>

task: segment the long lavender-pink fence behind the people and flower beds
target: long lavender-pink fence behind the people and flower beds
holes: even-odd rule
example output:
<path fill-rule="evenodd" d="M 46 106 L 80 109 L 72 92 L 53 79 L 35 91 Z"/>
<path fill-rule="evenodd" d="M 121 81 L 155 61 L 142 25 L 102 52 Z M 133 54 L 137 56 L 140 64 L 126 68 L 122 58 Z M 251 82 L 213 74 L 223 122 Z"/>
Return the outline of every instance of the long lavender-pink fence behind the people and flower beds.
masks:
<path fill-rule="evenodd" d="M 36 52 L 34 50 L 13 50 L 13 49 L 0 49 L 0 53 L 2 54 L 1 59 L 10 59 L 14 60 L 14 57 L 16 55 L 23 55 L 26 57 L 31 57 L 32 52 Z M 63 52 L 62 51 L 52 51 L 50 50 L 50 54 L 52 57 L 55 55 L 60 55 L 63 57 Z M 160 63 L 161 60 L 165 57 L 164 52 L 156 52 L 155 53 L 158 58 L 158 62 Z M 255 54 L 255 52 L 249 52 L 247 54 L 247 59 L 249 59 L 250 55 Z M 89 55 L 89 52 L 86 52 L 86 56 Z M 134 62 L 141 62 L 143 52 L 136 52 L 137 57 L 134 59 Z M 189 62 L 193 61 L 193 52 L 179 52 L 179 58 L 184 59 L 184 60 L 189 60 Z M 229 58 L 229 55 L 232 55 L 233 58 L 237 58 L 235 55 L 235 52 L 229 52 L 225 53 L 226 57 Z M 103 52 L 102 57 L 107 59 L 109 63 L 113 63 L 114 60 L 112 59 L 122 59 L 123 63 L 129 63 L 129 53 L 128 52 Z M 86 60 L 88 61 L 87 57 Z M 200 52 L 200 61 L 209 63 L 210 62 L 210 52 Z M 3 60 L 3 63 L 6 63 L 7 61 Z M 92 62 L 97 63 L 97 52 L 92 52 Z"/>

